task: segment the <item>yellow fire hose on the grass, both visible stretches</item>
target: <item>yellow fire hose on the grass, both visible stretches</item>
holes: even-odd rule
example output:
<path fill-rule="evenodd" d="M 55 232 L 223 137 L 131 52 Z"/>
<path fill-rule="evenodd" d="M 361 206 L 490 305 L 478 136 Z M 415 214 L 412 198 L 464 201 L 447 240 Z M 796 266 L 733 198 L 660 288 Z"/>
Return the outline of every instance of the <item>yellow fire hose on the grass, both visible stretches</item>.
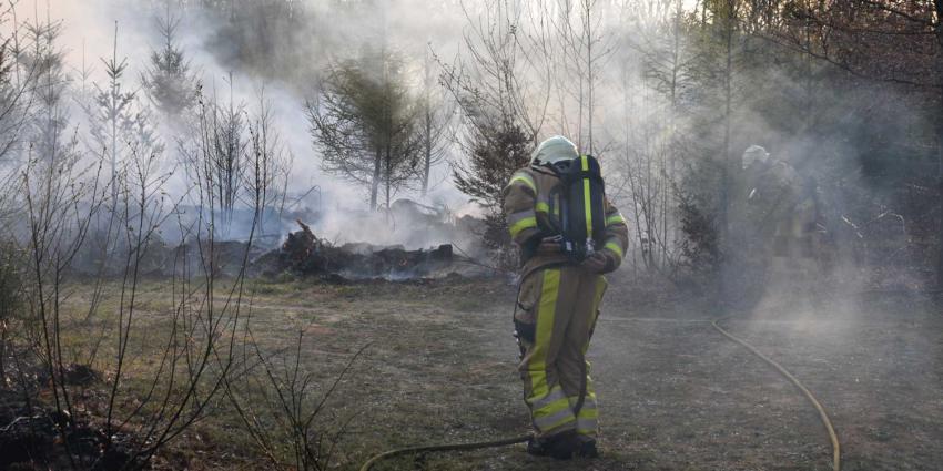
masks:
<path fill-rule="evenodd" d="M 711 321 L 711 326 L 713 326 L 713 328 L 717 329 L 717 331 L 722 334 L 728 339 L 733 340 L 737 344 L 740 344 L 743 348 L 750 350 L 750 352 L 760 357 L 760 359 L 762 359 L 763 361 L 765 361 L 767 364 L 769 364 L 773 368 L 775 368 L 777 371 L 779 371 L 782 376 L 784 376 L 788 380 L 790 380 L 790 382 L 795 385 L 795 387 L 799 388 L 799 390 L 802 391 L 803 395 L 805 395 L 805 398 L 809 399 L 809 402 L 811 402 L 812 406 L 815 407 L 815 410 L 819 411 L 819 418 L 822 420 L 822 423 L 825 426 L 825 430 L 828 430 L 829 438 L 832 441 L 832 460 L 833 460 L 832 465 L 833 465 L 833 469 L 834 469 L 834 471 L 841 471 L 841 448 L 839 446 L 839 438 L 838 438 L 838 434 L 835 434 L 835 429 L 834 429 L 834 427 L 832 427 L 832 421 L 829 419 L 829 414 L 825 412 L 825 408 L 823 408 L 822 405 L 819 403 L 819 400 L 815 399 L 815 397 L 812 395 L 812 392 L 808 388 L 805 388 L 805 386 L 803 386 L 802 382 L 799 381 L 798 378 L 795 378 L 791 372 L 789 372 L 789 370 L 783 368 L 782 365 L 780 365 L 780 364 L 775 362 L 775 360 L 767 357 L 760 350 L 758 350 L 756 347 L 748 344 L 746 340 L 733 336 L 732 334 L 728 332 L 722 327 L 720 327 L 717 322 L 720 321 L 720 320 L 723 320 L 723 319 L 726 319 L 726 317 Z M 468 450 L 477 450 L 477 449 L 481 449 L 481 448 L 506 447 L 506 446 L 509 446 L 509 444 L 525 442 L 525 441 L 529 440 L 530 437 L 531 437 L 530 434 L 526 434 L 526 436 L 520 436 L 520 437 L 507 438 L 507 439 L 503 439 L 503 440 L 398 448 L 398 449 L 385 451 L 383 453 L 379 453 L 379 454 L 372 457 L 369 460 L 367 460 L 364 463 L 363 467 L 361 467 L 361 471 L 369 471 L 373 468 L 373 465 L 376 464 L 377 462 L 379 462 L 382 460 L 389 459 L 389 458 L 399 457 L 399 455 L 403 455 L 403 454 L 426 453 L 426 452 L 430 452 L 430 451 L 468 451 Z"/>

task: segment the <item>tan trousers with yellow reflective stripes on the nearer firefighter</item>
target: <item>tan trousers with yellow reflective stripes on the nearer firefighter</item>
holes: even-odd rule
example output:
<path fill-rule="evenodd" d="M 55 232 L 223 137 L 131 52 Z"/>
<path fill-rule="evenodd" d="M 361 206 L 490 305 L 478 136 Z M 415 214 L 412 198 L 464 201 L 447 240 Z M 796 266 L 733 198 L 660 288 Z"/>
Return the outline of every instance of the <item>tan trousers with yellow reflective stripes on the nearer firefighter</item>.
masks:
<path fill-rule="evenodd" d="M 606 286 L 604 276 L 578 266 L 537 269 L 523 280 L 515 314 L 518 370 L 538 438 L 569 430 L 590 438 L 597 433 L 599 410 L 586 350 Z"/>

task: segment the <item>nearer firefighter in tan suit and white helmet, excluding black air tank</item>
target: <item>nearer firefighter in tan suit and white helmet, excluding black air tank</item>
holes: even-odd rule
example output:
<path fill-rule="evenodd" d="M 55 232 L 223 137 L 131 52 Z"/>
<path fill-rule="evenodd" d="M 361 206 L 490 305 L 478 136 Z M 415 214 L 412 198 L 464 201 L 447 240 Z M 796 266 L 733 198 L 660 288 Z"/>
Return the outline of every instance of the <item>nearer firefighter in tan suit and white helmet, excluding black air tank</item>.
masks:
<path fill-rule="evenodd" d="M 560 205 L 551 201 L 559 197 L 554 188 L 560 180 L 540 165 L 579 157 L 572 142 L 551 137 L 504 190 L 507 225 L 523 263 L 514 321 L 534 424 L 528 452 L 558 459 L 597 454 L 599 410 L 585 355 L 607 287 L 602 275 L 618 268 L 628 246 L 626 219 L 605 199 L 601 248 L 579 263 L 561 252 L 559 214 L 552 214 Z"/>

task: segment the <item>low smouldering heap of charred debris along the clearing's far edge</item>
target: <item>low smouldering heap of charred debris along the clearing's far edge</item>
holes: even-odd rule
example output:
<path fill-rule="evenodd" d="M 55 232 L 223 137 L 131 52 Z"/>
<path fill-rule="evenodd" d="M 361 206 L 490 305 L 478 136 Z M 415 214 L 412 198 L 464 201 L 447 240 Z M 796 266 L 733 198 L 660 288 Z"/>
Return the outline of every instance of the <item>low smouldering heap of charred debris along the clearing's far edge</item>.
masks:
<path fill-rule="evenodd" d="M 387 238 L 412 240 L 414 245 L 409 247 L 363 242 L 335 244 L 317 236 L 302 219 L 295 219 L 300 229 L 288 233 L 282 244 L 274 243 L 277 236 L 257 238 L 251 243 L 203 236 L 187 237 L 181 244 L 169 244 L 159 234 L 153 234 L 140 247 L 140 257 L 132 268 L 136 268 L 140 276 L 153 278 L 189 278 L 205 275 L 209 270 L 226 278 L 242 275 L 271 278 L 288 273 L 336 281 L 398 281 L 439 278 L 453 273 L 472 277 L 493 275 L 487 265 L 469 258 L 487 254 L 475 244 L 469 245 L 468 237 L 462 238 L 477 234 L 478 219 L 470 216 L 454 222 L 438 218 L 427 221 L 416 215 L 404 217 L 403 206 L 394 215 L 399 217 L 400 223 L 405 221 L 410 224 L 399 224 L 395 236 Z M 426 237 L 416 236 L 423 229 L 426 229 Z M 453 252 L 452 243 L 434 245 L 435 240 L 455 239 L 465 240 L 455 246 L 457 253 Z M 416 245 L 422 244 L 422 240 L 428 243 L 429 248 L 415 249 L 422 247 Z M 460 248 L 463 245 L 469 252 Z M 71 269 L 82 276 L 120 278 L 126 275 L 121 262 L 128 259 L 129 250 L 131 248 L 126 246 L 90 246 L 74 258 Z"/>

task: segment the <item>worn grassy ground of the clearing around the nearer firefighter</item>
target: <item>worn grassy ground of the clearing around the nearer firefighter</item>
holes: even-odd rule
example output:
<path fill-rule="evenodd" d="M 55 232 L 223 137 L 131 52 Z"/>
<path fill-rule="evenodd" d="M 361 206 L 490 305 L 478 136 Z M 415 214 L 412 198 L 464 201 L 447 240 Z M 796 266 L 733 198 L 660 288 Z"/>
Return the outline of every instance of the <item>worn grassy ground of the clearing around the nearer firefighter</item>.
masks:
<path fill-rule="evenodd" d="M 765 364 L 713 331 L 707 320 L 716 314 L 688 297 L 635 286 L 626 276 L 612 277 L 589 351 L 604 458 L 559 463 L 514 446 L 402 458 L 377 469 L 831 469 L 828 437 L 814 410 Z M 132 341 L 135 373 L 153 365 L 155 339 L 172 305 L 166 293 L 166 284 L 158 281 L 142 289 Z M 332 430 L 349 420 L 336 468 L 356 469 L 395 447 L 527 432 L 511 338 L 514 290 L 503 280 L 346 286 L 293 280 L 255 284 L 252 293 L 261 348 L 280 351 L 303 331 L 301 364 L 322 392 L 367 346 L 322 418 Z M 83 296 L 78 289 L 71 303 L 80 305 Z M 815 392 L 842 439 L 845 470 L 939 467 L 943 316 L 930 299 L 787 299 L 740 313 L 724 326 Z M 102 358 L 111 352 L 108 344 Z M 265 464 L 224 403 L 158 463 L 184 462 L 190 469 Z"/>

